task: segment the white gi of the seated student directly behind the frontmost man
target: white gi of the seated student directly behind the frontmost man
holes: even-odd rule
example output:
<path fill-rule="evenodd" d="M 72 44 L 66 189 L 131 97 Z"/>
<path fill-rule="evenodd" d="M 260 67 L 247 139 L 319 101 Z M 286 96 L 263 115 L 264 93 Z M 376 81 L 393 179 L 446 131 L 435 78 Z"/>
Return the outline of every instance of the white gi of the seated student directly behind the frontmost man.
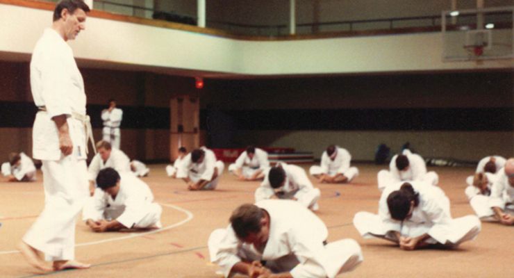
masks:
<path fill-rule="evenodd" d="M 270 199 L 270 197 L 275 195 L 276 191 L 281 191 L 284 198 L 290 199 L 296 197 L 298 202 L 306 207 L 315 206 L 317 199 L 320 199 L 321 193 L 318 188 L 314 188 L 305 170 L 297 165 L 280 164 L 285 171 L 284 186 L 276 189 L 272 188 L 270 179 L 268 178 L 270 170 L 268 170 L 265 174 L 264 181 L 260 183 L 260 186 L 255 191 L 256 202 Z"/>

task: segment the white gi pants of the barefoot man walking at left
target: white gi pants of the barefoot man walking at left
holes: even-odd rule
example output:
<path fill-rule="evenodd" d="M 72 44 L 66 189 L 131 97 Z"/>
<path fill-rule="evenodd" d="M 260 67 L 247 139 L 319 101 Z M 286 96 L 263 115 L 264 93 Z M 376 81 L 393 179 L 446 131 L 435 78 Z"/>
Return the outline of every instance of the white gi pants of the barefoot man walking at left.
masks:
<path fill-rule="evenodd" d="M 75 219 L 89 195 L 88 167 L 74 156 L 42 163 L 44 209 L 23 241 L 43 252 L 47 261 L 72 260 Z"/>

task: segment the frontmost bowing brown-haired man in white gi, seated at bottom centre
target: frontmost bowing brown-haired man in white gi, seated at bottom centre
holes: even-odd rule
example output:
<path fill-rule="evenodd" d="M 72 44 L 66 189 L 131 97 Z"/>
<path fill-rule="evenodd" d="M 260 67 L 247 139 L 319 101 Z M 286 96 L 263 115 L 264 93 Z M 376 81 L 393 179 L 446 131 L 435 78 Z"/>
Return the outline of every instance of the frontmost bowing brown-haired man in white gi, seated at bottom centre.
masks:
<path fill-rule="evenodd" d="M 224 277 L 329 277 L 363 261 L 353 239 L 326 243 L 325 224 L 298 202 L 265 200 L 233 211 L 231 224 L 210 234 L 210 261 Z"/>

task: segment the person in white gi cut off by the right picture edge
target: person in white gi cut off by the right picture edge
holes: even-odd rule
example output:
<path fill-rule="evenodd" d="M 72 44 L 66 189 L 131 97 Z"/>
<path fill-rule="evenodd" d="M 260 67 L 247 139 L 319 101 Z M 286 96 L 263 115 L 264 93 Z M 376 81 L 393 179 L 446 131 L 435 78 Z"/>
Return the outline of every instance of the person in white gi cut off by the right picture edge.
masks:
<path fill-rule="evenodd" d="M 492 183 L 489 206 L 501 224 L 514 224 L 514 158 L 508 158 Z"/>

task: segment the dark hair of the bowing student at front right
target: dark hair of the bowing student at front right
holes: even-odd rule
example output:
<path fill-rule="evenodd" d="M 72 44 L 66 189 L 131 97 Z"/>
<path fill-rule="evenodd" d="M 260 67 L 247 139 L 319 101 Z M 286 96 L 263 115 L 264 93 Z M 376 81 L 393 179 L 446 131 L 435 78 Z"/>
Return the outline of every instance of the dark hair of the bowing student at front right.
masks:
<path fill-rule="evenodd" d="M 391 218 L 404 220 L 408 215 L 408 211 L 411 210 L 411 201 L 414 201 L 414 206 L 417 206 L 420 204 L 420 195 L 414 192 L 411 183 L 404 183 L 399 190 L 393 191 L 388 196 L 388 208 Z"/>

